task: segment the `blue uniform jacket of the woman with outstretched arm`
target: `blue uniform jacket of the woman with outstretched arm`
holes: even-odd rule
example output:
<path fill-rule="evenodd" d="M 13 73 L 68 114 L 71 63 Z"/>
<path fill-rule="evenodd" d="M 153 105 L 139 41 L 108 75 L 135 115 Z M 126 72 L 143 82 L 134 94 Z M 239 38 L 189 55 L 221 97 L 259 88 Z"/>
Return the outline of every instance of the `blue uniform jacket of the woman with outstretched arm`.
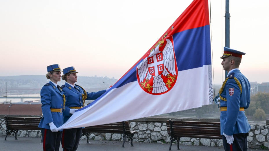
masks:
<path fill-rule="evenodd" d="M 82 94 L 84 94 L 84 90 L 79 87 L 78 85 L 75 85 L 75 88 L 71 87 L 68 83 L 65 83 L 65 85 L 62 85 L 62 91 L 65 95 L 65 109 L 63 110 L 64 113 L 64 123 L 73 115 L 69 114 L 70 108 L 69 107 L 83 107 L 83 100 L 82 100 Z M 96 100 L 99 98 L 102 94 L 104 94 L 106 90 L 98 91 L 98 92 L 91 92 L 87 93 L 87 98 L 85 100 Z"/>

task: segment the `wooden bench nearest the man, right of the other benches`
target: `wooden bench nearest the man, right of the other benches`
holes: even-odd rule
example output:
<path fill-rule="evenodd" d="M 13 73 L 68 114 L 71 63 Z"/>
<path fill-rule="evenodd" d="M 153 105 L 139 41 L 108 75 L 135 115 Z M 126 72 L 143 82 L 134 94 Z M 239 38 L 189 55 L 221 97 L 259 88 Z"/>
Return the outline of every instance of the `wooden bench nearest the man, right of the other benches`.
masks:
<path fill-rule="evenodd" d="M 220 122 L 191 122 L 191 121 L 167 121 L 167 132 L 170 137 L 171 150 L 172 143 L 178 143 L 180 137 L 222 139 L 220 135 Z"/>

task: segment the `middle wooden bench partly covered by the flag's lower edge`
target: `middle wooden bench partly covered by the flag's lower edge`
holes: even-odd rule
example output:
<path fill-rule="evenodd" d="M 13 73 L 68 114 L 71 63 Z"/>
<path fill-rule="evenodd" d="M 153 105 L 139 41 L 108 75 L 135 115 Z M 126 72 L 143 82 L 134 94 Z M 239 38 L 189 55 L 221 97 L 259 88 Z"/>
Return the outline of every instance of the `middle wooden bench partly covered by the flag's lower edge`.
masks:
<path fill-rule="evenodd" d="M 124 142 L 127 138 L 131 139 L 131 146 L 133 146 L 133 136 L 135 133 L 138 133 L 137 131 L 130 131 L 129 122 L 117 122 L 117 123 L 111 123 L 111 124 L 104 124 L 104 125 L 96 125 L 96 126 L 90 126 L 85 127 L 82 129 L 82 135 L 85 135 L 87 137 L 87 143 L 89 143 L 89 135 L 90 133 L 116 133 L 116 134 L 123 134 L 123 143 L 122 147 L 124 148 Z"/>

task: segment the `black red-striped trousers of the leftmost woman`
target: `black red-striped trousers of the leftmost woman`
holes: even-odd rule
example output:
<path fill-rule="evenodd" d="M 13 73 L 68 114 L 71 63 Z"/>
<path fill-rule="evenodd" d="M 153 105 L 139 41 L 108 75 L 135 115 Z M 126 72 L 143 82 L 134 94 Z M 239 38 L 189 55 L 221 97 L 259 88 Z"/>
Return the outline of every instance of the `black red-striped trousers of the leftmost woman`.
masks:
<path fill-rule="evenodd" d="M 62 131 L 52 132 L 50 129 L 41 129 L 44 151 L 59 151 Z"/>

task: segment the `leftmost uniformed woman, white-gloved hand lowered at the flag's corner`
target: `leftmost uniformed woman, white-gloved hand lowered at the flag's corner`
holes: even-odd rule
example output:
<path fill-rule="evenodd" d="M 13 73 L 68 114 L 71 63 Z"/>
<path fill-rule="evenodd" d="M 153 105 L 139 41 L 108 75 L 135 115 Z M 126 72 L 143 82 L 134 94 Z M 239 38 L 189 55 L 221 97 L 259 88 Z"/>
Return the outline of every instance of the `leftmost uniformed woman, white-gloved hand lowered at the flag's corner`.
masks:
<path fill-rule="evenodd" d="M 58 151 L 60 148 L 62 130 L 57 127 L 63 125 L 62 108 L 65 104 L 65 95 L 62 92 L 58 81 L 61 81 L 61 68 L 58 64 L 47 66 L 47 79 L 49 83 L 45 84 L 41 91 L 41 109 L 43 118 L 38 127 L 41 128 L 43 138 L 43 150 Z"/>

